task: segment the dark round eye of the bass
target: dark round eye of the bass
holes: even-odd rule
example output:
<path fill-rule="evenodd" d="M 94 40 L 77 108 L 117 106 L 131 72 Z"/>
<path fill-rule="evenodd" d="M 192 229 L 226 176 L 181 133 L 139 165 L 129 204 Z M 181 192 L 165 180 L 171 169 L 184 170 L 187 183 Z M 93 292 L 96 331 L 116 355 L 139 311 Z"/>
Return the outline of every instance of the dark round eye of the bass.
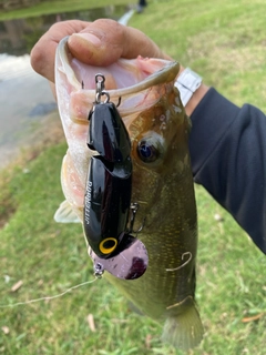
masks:
<path fill-rule="evenodd" d="M 137 155 L 144 163 L 153 163 L 162 155 L 162 143 L 156 136 L 143 138 L 137 143 Z"/>

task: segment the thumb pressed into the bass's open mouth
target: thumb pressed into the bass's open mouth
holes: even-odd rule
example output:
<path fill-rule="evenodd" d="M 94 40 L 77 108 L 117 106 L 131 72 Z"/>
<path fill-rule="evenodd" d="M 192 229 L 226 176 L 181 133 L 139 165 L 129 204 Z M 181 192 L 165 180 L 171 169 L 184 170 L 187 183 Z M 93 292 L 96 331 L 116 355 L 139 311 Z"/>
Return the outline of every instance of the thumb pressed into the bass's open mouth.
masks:
<path fill-rule="evenodd" d="M 119 58 L 137 55 L 170 59 L 141 31 L 106 19 L 89 23 L 80 33 L 72 34 L 68 43 L 76 59 L 91 65 L 109 65 Z"/>

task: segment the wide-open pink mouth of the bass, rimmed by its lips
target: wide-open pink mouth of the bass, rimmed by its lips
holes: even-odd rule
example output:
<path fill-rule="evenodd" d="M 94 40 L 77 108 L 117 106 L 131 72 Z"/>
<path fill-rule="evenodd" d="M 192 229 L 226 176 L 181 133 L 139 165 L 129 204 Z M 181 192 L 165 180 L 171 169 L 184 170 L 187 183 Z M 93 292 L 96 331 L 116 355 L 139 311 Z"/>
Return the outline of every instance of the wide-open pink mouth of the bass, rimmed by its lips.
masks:
<path fill-rule="evenodd" d="M 109 90 L 110 95 L 114 93 L 121 97 L 134 94 L 151 85 L 173 81 L 180 70 L 180 64 L 176 61 L 142 58 L 141 55 L 133 60 L 120 59 L 116 63 L 109 67 L 81 64 L 81 62 L 70 53 L 68 40 L 69 37 L 65 37 L 60 41 L 58 45 L 58 58 L 63 65 L 63 71 L 68 73 L 70 84 L 76 90 L 81 88 L 82 82 L 84 89 L 94 89 L 94 77 L 99 71 L 103 71 L 103 75 L 106 77 L 106 90 Z M 139 65 L 136 65 L 137 61 Z M 114 88 L 109 88 L 111 80 L 108 77 L 110 72 L 113 72 L 113 82 L 110 83 L 110 87 L 113 85 Z M 114 77 L 116 77 L 116 79 Z"/>

